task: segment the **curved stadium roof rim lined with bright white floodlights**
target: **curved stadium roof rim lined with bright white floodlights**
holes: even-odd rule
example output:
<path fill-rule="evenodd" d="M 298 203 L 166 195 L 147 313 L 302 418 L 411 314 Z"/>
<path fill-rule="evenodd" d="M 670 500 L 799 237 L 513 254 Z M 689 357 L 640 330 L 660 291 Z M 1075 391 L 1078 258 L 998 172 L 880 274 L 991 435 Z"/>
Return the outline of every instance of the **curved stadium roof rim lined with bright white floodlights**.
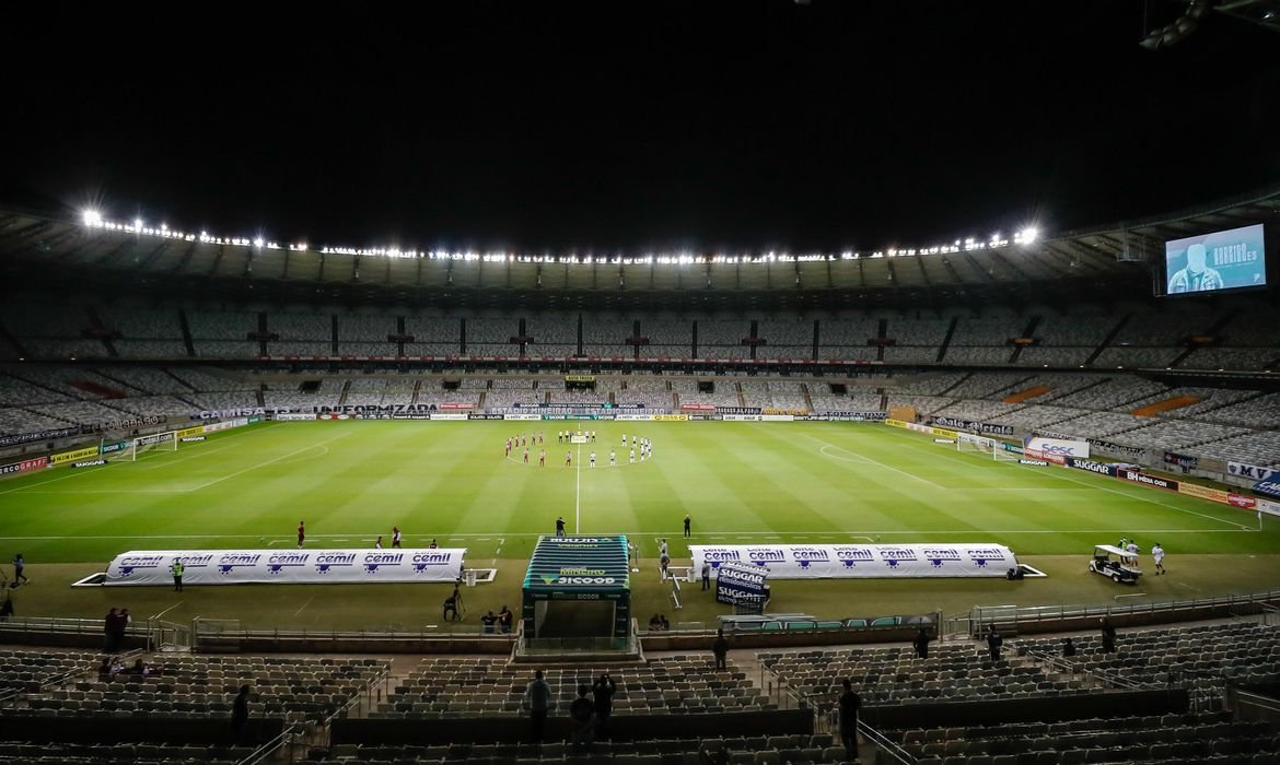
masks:
<path fill-rule="evenodd" d="M 548 308 L 860 307 L 1146 294 L 1164 242 L 1280 221 L 1280 187 L 1156 219 L 1021 242 L 861 253 L 442 253 L 337 251 L 0 211 L 0 275 L 13 285 L 227 299 Z M 92 225 L 90 225 L 92 224 Z"/>

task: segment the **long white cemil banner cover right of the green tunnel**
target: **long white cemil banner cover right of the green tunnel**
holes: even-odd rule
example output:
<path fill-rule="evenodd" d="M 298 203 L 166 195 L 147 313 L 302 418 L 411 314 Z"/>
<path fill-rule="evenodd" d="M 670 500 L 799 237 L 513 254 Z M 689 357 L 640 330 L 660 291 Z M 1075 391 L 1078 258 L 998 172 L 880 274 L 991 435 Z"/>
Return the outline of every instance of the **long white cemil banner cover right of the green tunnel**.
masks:
<path fill-rule="evenodd" d="M 694 571 L 723 563 L 767 568 L 776 580 L 1004 577 L 1018 565 L 1004 545 L 690 545 Z"/>

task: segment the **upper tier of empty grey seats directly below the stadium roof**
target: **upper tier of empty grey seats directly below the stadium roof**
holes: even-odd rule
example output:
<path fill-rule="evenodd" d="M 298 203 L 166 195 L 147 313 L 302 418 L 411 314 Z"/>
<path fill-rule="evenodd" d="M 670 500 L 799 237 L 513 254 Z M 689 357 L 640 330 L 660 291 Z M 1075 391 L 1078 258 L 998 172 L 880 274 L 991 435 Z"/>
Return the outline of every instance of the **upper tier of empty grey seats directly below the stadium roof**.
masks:
<path fill-rule="evenodd" d="M 0 361 L 444 357 L 722 359 L 1019 368 L 1261 371 L 1280 365 L 1265 297 L 1101 307 L 701 312 L 212 311 L 38 296 L 0 304 Z M 152 386 L 155 388 L 155 386 Z M 156 390 L 155 393 L 173 393 Z"/>

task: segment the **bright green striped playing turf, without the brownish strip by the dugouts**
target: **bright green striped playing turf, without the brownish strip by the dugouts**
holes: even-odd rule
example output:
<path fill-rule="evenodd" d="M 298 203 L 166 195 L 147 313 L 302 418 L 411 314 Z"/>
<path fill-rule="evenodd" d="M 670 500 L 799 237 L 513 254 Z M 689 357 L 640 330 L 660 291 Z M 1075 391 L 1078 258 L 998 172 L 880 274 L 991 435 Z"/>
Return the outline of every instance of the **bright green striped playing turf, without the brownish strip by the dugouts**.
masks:
<path fill-rule="evenodd" d="M 33 562 L 101 563 L 127 549 L 239 548 L 257 537 L 292 546 L 293 530 L 306 518 L 316 545 L 339 536 L 351 540 L 344 545 L 366 545 L 379 533 L 389 544 L 397 524 L 411 546 L 470 535 L 454 544 L 485 560 L 498 537 L 512 535 L 503 556 L 521 558 L 534 537 L 518 535 L 552 533 L 558 514 L 572 522 L 576 468 L 563 467 L 571 446 L 554 443 L 557 425 L 344 421 L 215 434 L 137 463 L 4 481 L 0 536 L 83 537 L 27 539 L 20 550 Z M 1242 532 L 1252 514 L 1079 471 L 957 453 L 882 425 L 581 425 L 599 432 L 582 450 L 585 459 L 594 448 L 599 464 L 582 468 L 584 530 L 634 533 L 646 545 L 677 539 L 687 512 L 694 541 L 722 544 L 890 535 L 896 542 L 995 541 L 1020 554 L 1082 554 L 1124 533 L 1169 530 L 1188 532 L 1179 535 L 1178 554 L 1276 549 L 1270 527 Z M 508 436 L 539 429 L 550 435 L 543 446 L 548 467 L 503 459 Z M 618 445 L 623 432 L 650 438 L 654 459 L 627 464 L 630 443 Z M 842 454 L 833 449 L 823 454 L 823 443 L 847 449 L 846 458 L 831 457 Z M 617 468 L 607 467 L 609 449 L 618 450 Z M 530 452 L 536 463 L 538 446 Z M 50 484 L 51 477 L 65 480 Z M 170 535 L 179 539 L 156 539 Z M 492 539 L 480 541 L 481 535 Z M 88 539 L 97 536 L 125 539 Z M 1144 546 L 1152 541 L 1171 546 L 1140 539 Z M 682 542 L 676 549 L 682 551 Z"/>

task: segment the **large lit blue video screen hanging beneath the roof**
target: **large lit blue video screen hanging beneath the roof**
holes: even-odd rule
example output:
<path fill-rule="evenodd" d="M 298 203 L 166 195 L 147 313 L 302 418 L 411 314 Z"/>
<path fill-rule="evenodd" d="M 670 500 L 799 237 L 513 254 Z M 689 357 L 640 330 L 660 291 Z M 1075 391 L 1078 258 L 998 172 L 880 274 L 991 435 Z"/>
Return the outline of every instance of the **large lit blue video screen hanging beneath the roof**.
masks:
<path fill-rule="evenodd" d="M 1166 294 L 1265 287 L 1262 225 L 1165 242 Z"/>

